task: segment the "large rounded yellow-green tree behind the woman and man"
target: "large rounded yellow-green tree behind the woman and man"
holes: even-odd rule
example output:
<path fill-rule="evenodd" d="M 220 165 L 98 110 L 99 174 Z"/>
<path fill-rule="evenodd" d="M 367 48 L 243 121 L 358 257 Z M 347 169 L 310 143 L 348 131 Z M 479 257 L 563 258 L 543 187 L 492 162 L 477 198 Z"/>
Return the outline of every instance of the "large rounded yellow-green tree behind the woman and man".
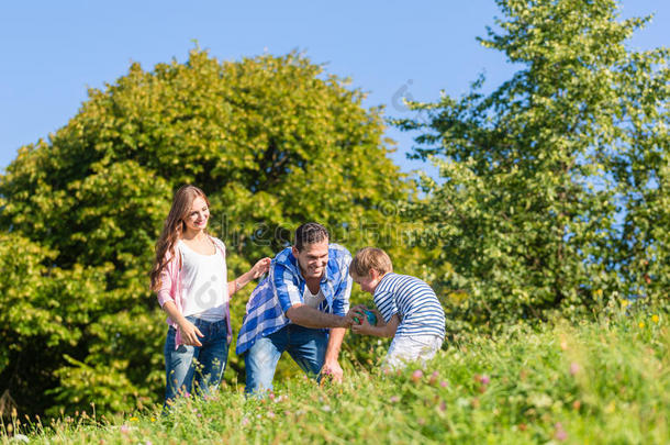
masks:
<path fill-rule="evenodd" d="M 0 376 L 20 407 L 160 400 L 165 315 L 147 274 L 183 183 L 209 194 L 231 275 L 305 221 L 351 249 L 383 242 L 398 216 L 380 205 L 410 186 L 387 156 L 381 110 L 362 99 L 299 54 L 221 63 L 194 49 L 150 71 L 133 64 L 48 141 L 22 147 L 0 177 Z"/>

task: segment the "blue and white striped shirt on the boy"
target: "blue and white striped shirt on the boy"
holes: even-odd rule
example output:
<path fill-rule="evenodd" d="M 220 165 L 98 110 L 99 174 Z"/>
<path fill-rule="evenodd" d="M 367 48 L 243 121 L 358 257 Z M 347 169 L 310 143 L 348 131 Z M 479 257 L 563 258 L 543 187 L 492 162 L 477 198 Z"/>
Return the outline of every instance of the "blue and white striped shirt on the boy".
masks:
<path fill-rule="evenodd" d="M 375 304 L 388 323 L 400 316 L 395 336 L 445 336 L 445 311 L 428 285 L 409 275 L 387 274 L 375 289 Z"/>

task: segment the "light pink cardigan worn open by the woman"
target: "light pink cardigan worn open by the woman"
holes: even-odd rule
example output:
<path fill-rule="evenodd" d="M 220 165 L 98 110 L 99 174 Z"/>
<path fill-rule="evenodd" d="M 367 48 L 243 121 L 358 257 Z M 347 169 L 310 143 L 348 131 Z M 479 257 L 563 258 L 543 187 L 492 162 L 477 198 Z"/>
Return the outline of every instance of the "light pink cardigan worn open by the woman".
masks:
<path fill-rule="evenodd" d="M 223 242 L 213 236 L 210 236 L 210 240 L 212 240 L 214 242 L 216 249 L 221 253 L 221 255 L 223 255 L 223 260 L 225 262 L 225 245 L 223 244 Z M 183 308 L 183 293 L 181 291 L 181 262 L 182 262 L 182 258 L 181 258 L 181 251 L 179 251 L 179 247 L 175 247 L 175 248 L 178 251 L 179 257 L 178 258 L 172 257 L 169 252 L 167 252 L 165 254 L 167 264 L 165 265 L 165 268 L 160 272 L 160 288 L 158 289 L 158 291 L 156 293 L 158 297 L 158 303 L 160 304 L 160 308 L 163 308 L 163 305 L 167 301 L 171 301 L 177 307 L 177 310 L 181 313 L 182 308 Z M 225 313 L 225 322 L 226 322 L 227 330 L 228 330 L 227 341 L 228 341 L 228 345 L 230 345 L 231 341 L 233 340 L 233 330 L 231 329 L 230 300 L 226 301 L 226 303 L 225 303 L 224 313 Z M 172 326 L 177 330 L 177 335 L 175 336 L 175 348 L 177 348 L 177 347 L 179 347 L 179 345 L 182 344 L 181 334 L 180 334 L 179 330 L 177 329 L 177 323 L 175 323 L 172 321 L 172 319 L 170 319 L 168 316 L 167 324 L 169 324 L 170 326 Z"/>

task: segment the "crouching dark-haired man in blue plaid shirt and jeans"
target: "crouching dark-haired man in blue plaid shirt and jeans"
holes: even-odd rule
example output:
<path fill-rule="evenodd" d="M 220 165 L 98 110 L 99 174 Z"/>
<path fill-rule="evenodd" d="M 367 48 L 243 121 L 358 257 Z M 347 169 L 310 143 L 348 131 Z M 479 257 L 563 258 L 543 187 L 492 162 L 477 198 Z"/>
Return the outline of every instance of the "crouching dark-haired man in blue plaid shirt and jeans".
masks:
<path fill-rule="evenodd" d="M 247 393 L 272 389 L 284 351 L 310 377 L 342 381 L 337 358 L 353 323 L 351 255 L 328 241 L 321 224 L 298 227 L 294 245 L 277 254 L 268 278 L 252 293 L 236 348 L 244 354 Z"/>

